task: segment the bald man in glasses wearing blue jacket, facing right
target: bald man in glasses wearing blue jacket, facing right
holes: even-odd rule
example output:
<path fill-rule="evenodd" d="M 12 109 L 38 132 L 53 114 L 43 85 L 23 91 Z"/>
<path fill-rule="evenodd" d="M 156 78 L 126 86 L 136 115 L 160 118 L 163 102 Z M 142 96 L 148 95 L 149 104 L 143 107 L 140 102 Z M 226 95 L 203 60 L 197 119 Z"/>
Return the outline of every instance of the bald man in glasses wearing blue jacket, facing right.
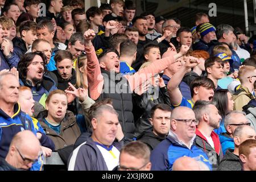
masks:
<path fill-rule="evenodd" d="M 168 137 L 151 151 L 151 170 L 172 170 L 175 160 L 182 156 L 196 158 L 211 169 L 207 154 L 193 144 L 198 123 L 192 109 L 180 106 L 172 110 L 171 130 Z"/>

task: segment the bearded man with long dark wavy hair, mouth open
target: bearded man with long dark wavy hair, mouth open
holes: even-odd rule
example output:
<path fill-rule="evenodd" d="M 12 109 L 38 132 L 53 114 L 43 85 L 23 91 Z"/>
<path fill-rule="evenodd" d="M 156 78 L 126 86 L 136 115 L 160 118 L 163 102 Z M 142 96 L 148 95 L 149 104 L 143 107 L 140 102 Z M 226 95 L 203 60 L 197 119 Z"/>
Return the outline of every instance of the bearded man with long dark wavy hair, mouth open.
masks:
<path fill-rule="evenodd" d="M 18 63 L 19 84 L 32 90 L 33 99 L 45 106 L 46 98 L 56 90 L 55 81 L 46 76 L 47 58 L 43 52 L 26 53 Z"/>

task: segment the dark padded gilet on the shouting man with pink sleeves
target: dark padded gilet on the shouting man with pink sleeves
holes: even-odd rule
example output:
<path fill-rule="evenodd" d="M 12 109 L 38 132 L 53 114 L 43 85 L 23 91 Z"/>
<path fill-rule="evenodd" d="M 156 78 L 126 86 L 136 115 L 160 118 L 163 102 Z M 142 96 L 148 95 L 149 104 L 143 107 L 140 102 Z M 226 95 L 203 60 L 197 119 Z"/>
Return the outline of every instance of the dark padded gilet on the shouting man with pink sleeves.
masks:
<path fill-rule="evenodd" d="M 133 139 L 134 119 L 133 119 L 133 101 L 129 82 L 121 74 L 111 73 L 101 69 L 104 77 L 104 88 L 98 100 L 111 98 L 113 107 L 118 113 L 118 119 L 122 126 L 123 133 L 127 138 Z"/>

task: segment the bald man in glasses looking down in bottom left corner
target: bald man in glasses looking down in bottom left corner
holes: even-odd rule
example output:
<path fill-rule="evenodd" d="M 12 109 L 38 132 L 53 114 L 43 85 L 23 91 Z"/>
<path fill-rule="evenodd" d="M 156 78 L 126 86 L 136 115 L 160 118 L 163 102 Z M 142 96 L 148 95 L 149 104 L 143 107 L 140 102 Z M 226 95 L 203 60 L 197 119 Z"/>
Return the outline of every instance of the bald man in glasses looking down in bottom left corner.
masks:
<path fill-rule="evenodd" d="M 40 142 L 29 130 L 20 131 L 11 141 L 5 159 L 0 158 L 0 171 L 28 170 L 39 159 Z"/>

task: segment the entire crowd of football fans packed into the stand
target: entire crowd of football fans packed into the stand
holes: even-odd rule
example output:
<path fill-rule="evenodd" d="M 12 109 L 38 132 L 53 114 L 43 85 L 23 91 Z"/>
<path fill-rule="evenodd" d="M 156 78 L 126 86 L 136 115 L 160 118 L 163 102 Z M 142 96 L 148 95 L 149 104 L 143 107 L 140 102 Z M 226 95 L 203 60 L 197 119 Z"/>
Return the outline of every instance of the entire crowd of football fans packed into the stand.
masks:
<path fill-rule="evenodd" d="M 42 2 L 0 0 L 0 170 L 256 170 L 256 36 Z"/>

